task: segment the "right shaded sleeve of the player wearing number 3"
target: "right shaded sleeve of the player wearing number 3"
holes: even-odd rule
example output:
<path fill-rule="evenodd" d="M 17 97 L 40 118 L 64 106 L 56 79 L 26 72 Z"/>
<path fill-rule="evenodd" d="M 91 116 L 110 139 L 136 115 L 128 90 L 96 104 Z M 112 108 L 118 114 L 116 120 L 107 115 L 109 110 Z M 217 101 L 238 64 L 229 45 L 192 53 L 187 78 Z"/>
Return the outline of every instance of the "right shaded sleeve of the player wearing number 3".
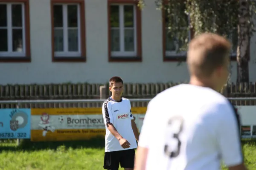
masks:
<path fill-rule="evenodd" d="M 221 157 L 227 166 L 239 165 L 243 163 L 239 115 L 229 102 L 219 109 L 221 119 L 217 127 L 217 141 Z"/>

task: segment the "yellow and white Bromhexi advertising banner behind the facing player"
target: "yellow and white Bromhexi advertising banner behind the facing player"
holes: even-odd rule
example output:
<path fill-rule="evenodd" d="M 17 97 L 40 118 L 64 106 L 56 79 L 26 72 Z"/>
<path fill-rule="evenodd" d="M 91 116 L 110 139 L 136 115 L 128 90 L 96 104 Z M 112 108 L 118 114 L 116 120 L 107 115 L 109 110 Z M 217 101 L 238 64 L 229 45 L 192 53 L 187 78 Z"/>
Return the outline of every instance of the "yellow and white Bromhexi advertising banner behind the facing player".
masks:
<path fill-rule="evenodd" d="M 132 108 L 138 130 L 146 108 Z M 31 141 L 84 140 L 105 136 L 102 108 L 31 109 Z"/>

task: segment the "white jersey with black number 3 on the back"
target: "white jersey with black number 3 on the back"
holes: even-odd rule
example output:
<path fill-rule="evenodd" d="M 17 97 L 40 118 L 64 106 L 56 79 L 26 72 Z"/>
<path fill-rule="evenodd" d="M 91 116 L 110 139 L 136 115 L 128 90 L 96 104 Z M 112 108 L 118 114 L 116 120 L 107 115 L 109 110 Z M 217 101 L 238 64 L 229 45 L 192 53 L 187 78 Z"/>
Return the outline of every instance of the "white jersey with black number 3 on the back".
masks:
<path fill-rule="evenodd" d="M 139 146 L 148 148 L 146 170 L 220 170 L 243 162 L 239 118 L 211 88 L 169 88 L 151 100 Z"/>

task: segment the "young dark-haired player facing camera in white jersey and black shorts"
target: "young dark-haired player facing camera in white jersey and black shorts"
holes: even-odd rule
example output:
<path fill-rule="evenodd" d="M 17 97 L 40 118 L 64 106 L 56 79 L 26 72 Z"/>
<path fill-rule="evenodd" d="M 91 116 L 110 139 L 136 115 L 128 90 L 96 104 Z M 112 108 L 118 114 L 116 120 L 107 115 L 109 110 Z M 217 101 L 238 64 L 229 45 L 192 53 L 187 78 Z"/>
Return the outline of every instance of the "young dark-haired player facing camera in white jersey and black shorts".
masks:
<path fill-rule="evenodd" d="M 120 77 L 109 80 L 109 90 L 112 96 L 102 105 L 106 125 L 103 167 L 118 170 L 120 164 L 125 170 L 133 170 L 139 133 L 131 113 L 131 103 L 129 99 L 121 98 L 123 81 Z"/>

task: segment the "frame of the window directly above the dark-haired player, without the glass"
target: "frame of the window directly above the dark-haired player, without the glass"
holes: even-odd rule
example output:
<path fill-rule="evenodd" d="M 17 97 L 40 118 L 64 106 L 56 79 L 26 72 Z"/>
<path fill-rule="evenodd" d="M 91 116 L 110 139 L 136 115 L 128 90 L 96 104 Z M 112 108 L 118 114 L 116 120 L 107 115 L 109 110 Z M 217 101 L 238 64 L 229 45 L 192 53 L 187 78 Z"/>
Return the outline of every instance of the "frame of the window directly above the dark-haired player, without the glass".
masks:
<path fill-rule="evenodd" d="M 108 61 L 109 62 L 141 62 L 142 61 L 142 40 L 141 40 L 141 10 L 137 6 L 138 0 L 108 0 Z M 112 52 L 111 51 L 111 5 L 134 5 L 134 51 L 135 52 L 124 52 L 121 51 Z M 119 21 L 122 21 L 119 18 Z M 121 23 L 123 25 L 123 23 Z M 120 27 L 120 26 L 119 26 Z M 125 28 L 125 27 L 124 27 Z M 123 36 L 120 37 L 123 39 Z M 120 46 L 124 41 L 120 42 Z M 122 49 L 122 47 L 120 47 Z M 135 55 L 134 55 L 135 54 Z"/>

